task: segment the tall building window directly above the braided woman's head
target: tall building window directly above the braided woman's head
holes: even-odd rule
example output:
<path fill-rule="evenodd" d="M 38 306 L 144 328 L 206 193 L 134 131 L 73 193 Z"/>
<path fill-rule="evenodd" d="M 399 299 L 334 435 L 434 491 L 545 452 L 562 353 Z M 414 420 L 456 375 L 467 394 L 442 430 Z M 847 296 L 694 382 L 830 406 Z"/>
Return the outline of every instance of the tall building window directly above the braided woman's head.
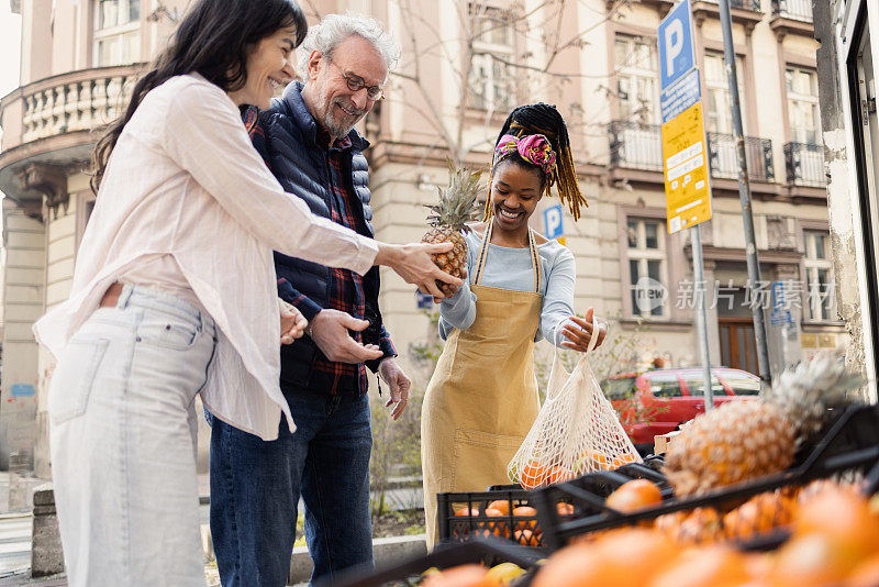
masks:
<path fill-rule="evenodd" d="M 515 59 L 513 21 L 509 12 L 470 4 L 474 62 L 470 69 L 470 107 L 507 111 L 513 106 Z"/>

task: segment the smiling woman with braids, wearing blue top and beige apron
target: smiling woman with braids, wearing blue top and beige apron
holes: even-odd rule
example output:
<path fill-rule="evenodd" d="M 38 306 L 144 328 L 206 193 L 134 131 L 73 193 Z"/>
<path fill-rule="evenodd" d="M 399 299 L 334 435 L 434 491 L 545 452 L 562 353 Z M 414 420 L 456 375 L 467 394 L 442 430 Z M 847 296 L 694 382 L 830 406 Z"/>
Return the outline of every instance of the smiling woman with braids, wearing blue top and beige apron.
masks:
<path fill-rule="evenodd" d="M 565 121 L 552 106 L 519 107 L 498 136 L 485 220 L 465 235 L 468 279 L 439 304 L 445 346 L 421 419 L 431 545 L 437 492 L 510 483 L 507 464 L 539 410 L 534 342 L 586 352 L 593 335 L 592 309 L 574 313 L 574 255 L 528 228 L 553 186 L 579 218 L 586 199 Z M 598 344 L 605 333 L 596 333 Z"/>

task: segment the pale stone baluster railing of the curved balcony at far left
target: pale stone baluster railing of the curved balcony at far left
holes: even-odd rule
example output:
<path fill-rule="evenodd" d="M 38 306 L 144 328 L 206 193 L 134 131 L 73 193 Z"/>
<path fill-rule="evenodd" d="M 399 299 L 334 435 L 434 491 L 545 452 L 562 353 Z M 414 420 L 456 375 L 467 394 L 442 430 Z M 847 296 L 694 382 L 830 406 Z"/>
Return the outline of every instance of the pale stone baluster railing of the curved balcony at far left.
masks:
<path fill-rule="evenodd" d="M 18 88 L 0 103 L 2 148 L 107 124 L 120 114 L 141 69 L 84 69 Z"/>

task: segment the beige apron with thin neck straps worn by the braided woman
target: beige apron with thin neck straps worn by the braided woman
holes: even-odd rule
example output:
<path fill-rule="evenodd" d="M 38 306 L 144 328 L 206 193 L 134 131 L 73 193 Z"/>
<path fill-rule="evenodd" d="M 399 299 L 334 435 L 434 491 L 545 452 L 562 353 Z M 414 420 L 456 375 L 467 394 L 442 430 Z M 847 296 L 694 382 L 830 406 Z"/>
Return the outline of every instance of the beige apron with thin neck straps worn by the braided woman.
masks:
<path fill-rule="evenodd" d="M 485 491 L 511 483 L 507 464 L 539 411 L 534 335 L 541 319 L 541 264 L 528 250 L 534 291 L 480 286 L 491 225 L 472 279 L 476 320 L 446 340 L 421 412 L 421 459 L 427 549 L 436 536 L 436 494 Z"/>

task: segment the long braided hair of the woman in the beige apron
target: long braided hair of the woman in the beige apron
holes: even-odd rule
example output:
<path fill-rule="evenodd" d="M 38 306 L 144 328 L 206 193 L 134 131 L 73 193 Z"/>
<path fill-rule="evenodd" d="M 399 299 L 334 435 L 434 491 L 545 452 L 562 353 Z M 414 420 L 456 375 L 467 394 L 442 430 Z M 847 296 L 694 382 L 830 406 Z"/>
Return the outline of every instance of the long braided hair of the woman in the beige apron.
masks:
<path fill-rule="evenodd" d="M 536 104 L 520 106 L 510 112 L 503 123 L 501 132 L 498 134 L 498 144 L 504 134 L 512 134 L 516 137 L 530 134 L 543 134 L 549 140 L 553 151 L 556 152 L 556 168 L 548 181 L 544 182 L 545 193 L 549 193 L 549 188 L 556 186 L 558 198 L 568 207 L 574 220 L 580 218 L 580 207 L 588 208 L 586 198 L 580 192 L 577 184 L 577 173 L 574 169 L 574 157 L 570 153 L 570 139 L 565 119 L 558 113 L 556 107 L 538 102 Z M 531 163 L 523 159 L 516 152 L 508 153 L 494 160 L 491 167 L 491 175 L 501 162 L 510 158 L 518 158 L 516 163 L 528 166 Z M 491 185 L 491 175 L 489 185 Z M 483 220 L 488 221 L 494 214 L 491 206 L 491 198 L 486 200 Z"/>

